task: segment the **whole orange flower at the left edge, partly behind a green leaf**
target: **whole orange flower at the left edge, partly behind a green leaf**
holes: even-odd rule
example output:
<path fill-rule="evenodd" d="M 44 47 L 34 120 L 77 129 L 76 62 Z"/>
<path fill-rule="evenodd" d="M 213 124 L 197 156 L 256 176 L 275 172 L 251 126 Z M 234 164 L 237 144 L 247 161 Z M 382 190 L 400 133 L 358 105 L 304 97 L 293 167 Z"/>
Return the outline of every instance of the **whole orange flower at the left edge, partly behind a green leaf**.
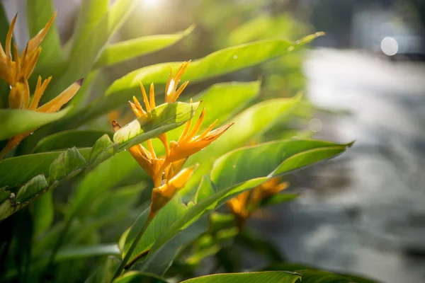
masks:
<path fill-rule="evenodd" d="M 60 108 L 62 108 L 62 105 L 67 103 L 75 95 L 75 93 L 77 93 L 81 87 L 83 79 L 73 83 L 67 89 L 62 91 L 59 96 L 38 107 L 40 98 L 45 92 L 45 89 L 50 83 L 50 80 L 52 79 L 50 76 L 49 78 L 42 81 L 41 77 L 38 76 L 37 85 L 35 86 L 35 91 L 33 93 L 33 99 L 30 102 L 30 87 L 28 85 L 28 79 L 30 75 L 33 74 L 35 63 L 40 56 L 40 43 L 44 39 L 47 31 L 55 20 L 55 16 L 56 13 L 53 14 L 52 18 L 50 18 L 50 21 L 45 25 L 45 28 L 40 30 L 40 32 L 27 43 L 21 54 L 21 57 L 18 54 L 18 47 L 16 47 L 16 44 L 13 44 L 14 58 L 12 58 L 11 54 L 11 41 L 13 28 L 16 22 L 16 16 L 13 18 L 6 37 L 6 52 L 0 45 L 0 78 L 4 79 L 4 81 L 6 81 L 11 88 L 8 96 L 9 108 L 32 110 L 45 113 L 57 112 L 60 110 Z M 18 134 L 9 139 L 4 149 L 2 149 L 0 152 L 0 160 L 6 156 L 8 151 L 20 144 L 23 139 L 28 137 L 28 135 L 34 131 L 35 129 L 29 132 Z"/>

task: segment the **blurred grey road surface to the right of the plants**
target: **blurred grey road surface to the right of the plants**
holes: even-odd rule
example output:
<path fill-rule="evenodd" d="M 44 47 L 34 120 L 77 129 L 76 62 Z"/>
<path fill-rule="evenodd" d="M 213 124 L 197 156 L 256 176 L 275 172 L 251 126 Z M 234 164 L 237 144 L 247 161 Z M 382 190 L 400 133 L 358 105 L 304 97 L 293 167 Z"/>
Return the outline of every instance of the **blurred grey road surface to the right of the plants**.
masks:
<path fill-rule="evenodd" d="M 299 200 L 257 225 L 289 260 L 425 282 L 425 64 L 315 50 L 305 74 L 315 105 L 351 112 L 319 115 L 317 138 L 356 144 L 304 171 Z"/>

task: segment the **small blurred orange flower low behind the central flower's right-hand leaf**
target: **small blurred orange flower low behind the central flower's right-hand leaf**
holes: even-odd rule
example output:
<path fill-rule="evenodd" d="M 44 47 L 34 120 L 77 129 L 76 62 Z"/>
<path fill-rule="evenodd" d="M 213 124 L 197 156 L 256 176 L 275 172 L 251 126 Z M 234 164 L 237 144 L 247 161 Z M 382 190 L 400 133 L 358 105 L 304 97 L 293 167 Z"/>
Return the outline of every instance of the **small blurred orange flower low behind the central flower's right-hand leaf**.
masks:
<path fill-rule="evenodd" d="M 259 207 L 262 200 L 272 195 L 276 195 L 281 190 L 288 187 L 288 182 L 280 182 L 280 177 L 271 178 L 266 182 L 254 187 L 252 192 L 245 191 L 233 197 L 227 202 L 230 212 L 236 216 L 239 229 L 242 228 L 244 222 L 251 215 L 251 212 Z"/>

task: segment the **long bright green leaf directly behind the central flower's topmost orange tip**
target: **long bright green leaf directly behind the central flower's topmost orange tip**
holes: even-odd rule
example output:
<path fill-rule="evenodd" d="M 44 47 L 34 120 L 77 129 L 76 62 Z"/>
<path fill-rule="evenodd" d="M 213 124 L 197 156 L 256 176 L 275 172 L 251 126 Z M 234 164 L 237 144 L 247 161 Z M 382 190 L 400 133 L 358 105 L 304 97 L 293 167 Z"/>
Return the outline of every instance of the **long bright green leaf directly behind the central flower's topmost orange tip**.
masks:
<path fill-rule="evenodd" d="M 203 81 L 267 62 L 300 46 L 286 40 L 263 40 L 229 47 L 193 61 L 181 79 L 183 81 Z M 181 62 L 167 62 L 130 72 L 114 81 L 106 91 L 106 96 L 91 103 L 89 109 L 81 110 L 79 115 L 84 116 L 80 119 L 92 119 L 123 105 L 132 96 L 137 95 L 140 81 L 142 83 L 166 83 L 169 67 L 177 69 L 180 65 Z"/>

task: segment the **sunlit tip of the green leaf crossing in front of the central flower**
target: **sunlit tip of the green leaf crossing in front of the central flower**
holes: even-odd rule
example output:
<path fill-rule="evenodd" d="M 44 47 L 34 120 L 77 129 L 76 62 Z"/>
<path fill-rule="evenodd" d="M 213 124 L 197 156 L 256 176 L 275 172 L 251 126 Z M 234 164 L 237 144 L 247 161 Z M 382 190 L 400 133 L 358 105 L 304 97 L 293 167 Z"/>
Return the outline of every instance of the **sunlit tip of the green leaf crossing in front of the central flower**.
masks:
<path fill-rule="evenodd" d="M 128 123 L 113 135 L 113 141 L 120 148 L 128 149 L 163 132 L 179 127 L 195 114 L 200 103 L 164 103 Z"/>

